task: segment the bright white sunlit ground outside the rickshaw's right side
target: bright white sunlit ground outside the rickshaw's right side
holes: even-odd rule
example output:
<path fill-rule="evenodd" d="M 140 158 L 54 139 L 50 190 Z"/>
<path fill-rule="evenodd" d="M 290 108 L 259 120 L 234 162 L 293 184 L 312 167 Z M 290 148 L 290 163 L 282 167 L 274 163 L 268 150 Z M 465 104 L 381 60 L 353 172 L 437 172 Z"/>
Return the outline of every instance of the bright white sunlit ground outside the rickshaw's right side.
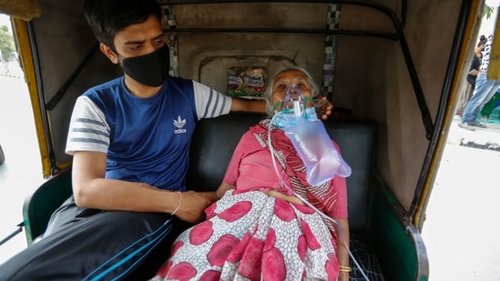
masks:
<path fill-rule="evenodd" d="M 422 236 L 432 281 L 500 280 L 500 125 L 470 132 L 454 121 L 427 207 Z"/>

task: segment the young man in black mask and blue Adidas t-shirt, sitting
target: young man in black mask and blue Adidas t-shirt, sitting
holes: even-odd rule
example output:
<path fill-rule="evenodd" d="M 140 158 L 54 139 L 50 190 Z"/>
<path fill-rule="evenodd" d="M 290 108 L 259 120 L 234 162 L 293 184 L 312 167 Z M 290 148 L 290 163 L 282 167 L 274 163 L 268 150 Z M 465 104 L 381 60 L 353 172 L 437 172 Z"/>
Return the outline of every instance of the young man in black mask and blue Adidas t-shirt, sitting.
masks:
<path fill-rule="evenodd" d="M 74 195 L 43 239 L 0 266 L 0 280 L 148 279 L 182 230 L 179 220 L 200 222 L 214 199 L 184 186 L 196 123 L 264 111 L 261 101 L 168 76 L 156 0 L 87 0 L 85 15 L 124 75 L 78 97 L 66 143 Z"/>

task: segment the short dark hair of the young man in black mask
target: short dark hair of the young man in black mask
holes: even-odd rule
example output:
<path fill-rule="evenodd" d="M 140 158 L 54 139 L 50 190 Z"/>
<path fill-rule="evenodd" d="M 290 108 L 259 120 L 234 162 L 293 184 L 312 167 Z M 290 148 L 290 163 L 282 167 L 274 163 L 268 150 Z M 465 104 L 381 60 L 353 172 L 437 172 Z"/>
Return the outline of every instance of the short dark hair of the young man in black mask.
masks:
<path fill-rule="evenodd" d="M 146 22 L 156 15 L 161 22 L 162 12 L 157 0 L 86 0 L 85 17 L 99 43 L 116 52 L 113 40 L 118 31 L 129 25 Z"/>

